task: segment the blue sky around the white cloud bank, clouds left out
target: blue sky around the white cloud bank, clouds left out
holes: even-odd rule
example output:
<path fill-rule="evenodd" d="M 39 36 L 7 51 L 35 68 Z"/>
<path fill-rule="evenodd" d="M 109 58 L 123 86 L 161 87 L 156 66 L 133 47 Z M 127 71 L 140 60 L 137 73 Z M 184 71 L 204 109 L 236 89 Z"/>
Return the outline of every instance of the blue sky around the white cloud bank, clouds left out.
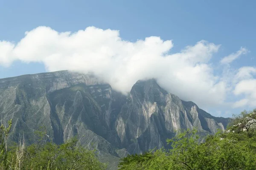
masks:
<path fill-rule="evenodd" d="M 163 41 L 172 40 L 173 47 L 169 51 L 170 54 L 178 53 L 188 45 L 192 46 L 201 40 L 206 40 L 215 45 L 221 44 L 218 51 L 212 52 L 210 60 L 207 61 L 207 65 L 212 69 L 212 75 L 220 79 L 228 79 L 230 76 L 235 76 L 235 72 L 238 73 L 241 67 L 249 66 L 253 69 L 256 66 L 255 6 L 256 2 L 253 0 L 0 0 L 0 41 L 16 45 L 25 37 L 26 31 L 31 31 L 38 26 L 47 26 L 59 33 L 66 31 L 74 33 L 89 26 L 103 30 L 119 30 L 119 37 L 128 42 L 157 36 Z M 236 53 L 241 47 L 246 49 L 245 54 L 239 55 L 228 65 L 220 64 L 223 57 Z M 45 63 L 40 59 L 14 59 L 9 65 L 1 66 L 0 61 L 0 78 L 54 70 L 46 69 Z M 51 66 L 47 65 L 47 67 Z M 227 70 L 230 76 L 223 75 Z M 252 72 L 247 72 L 250 76 L 246 80 L 250 79 L 254 83 L 255 75 Z M 255 96 L 250 95 L 250 93 L 256 94 L 254 86 L 249 87 L 251 91 L 248 92 L 246 89 L 249 80 L 241 82 L 242 80 L 244 79 L 234 83 L 230 80 L 225 85 L 226 89 L 231 88 L 231 90 L 226 90 L 226 95 L 219 99 L 223 99 L 221 107 L 218 107 L 219 103 L 213 101 L 201 102 L 205 100 L 205 96 L 199 95 L 200 99 L 197 99 L 195 94 L 186 97 L 182 91 L 177 90 L 177 93 L 175 90 L 169 91 L 179 94 L 178 96 L 183 99 L 198 101 L 201 108 L 215 116 L 226 117 L 231 116 L 232 113 L 239 113 L 243 109 L 256 108 L 256 104 L 245 102 L 245 99 L 255 99 L 256 102 Z M 160 80 L 160 84 L 161 82 L 166 84 Z M 218 82 L 221 80 L 213 83 Z M 189 85 L 184 86 L 186 87 Z M 172 85 L 172 89 L 176 89 L 175 84 Z M 211 89 L 215 87 L 212 85 Z M 122 89 L 119 90 L 122 91 Z M 219 92 L 216 91 L 216 93 L 214 95 L 218 96 Z M 234 102 L 243 99 L 241 107 L 233 107 Z M 216 97 L 217 100 L 218 97 Z"/>

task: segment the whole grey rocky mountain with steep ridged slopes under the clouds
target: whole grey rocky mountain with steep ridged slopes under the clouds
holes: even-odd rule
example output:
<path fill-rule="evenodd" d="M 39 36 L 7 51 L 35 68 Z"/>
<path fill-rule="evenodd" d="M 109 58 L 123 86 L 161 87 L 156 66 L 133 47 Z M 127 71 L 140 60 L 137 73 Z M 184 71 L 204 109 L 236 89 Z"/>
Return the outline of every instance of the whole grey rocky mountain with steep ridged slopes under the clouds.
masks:
<path fill-rule="evenodd" d="M 57 144 L 77 136 L 111 167 L 127 154 L 168 148 L 166 139 L 180 130 L 196 127 L 206 135 L 229 122 L 168 94 L 155 79 L 137 81 L 125 96 L 93 75 L 70 71 L 0 79 L 0 114 L 13 119 L 10 141 L 24 134 L 32 143 L 42 129 Z"/>

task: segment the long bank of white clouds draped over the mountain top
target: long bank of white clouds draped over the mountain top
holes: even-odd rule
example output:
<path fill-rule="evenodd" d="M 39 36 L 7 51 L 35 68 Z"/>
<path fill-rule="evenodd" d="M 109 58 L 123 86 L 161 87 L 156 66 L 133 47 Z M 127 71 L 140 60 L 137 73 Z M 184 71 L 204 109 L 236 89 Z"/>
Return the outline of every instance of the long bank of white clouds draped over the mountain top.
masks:
<path fill-rule="evenodd" d="M 231 90 L 228 88 L 230 82 L 215 75 L 209 61 L 220 45 L 201 40 L 184 47 L 179 53 L 172 53 L 172 47 L 172 40 L 164 41 L 160 37 L 125 41 L 119 36 L 119 31 L 110 29 L 87 27 L 74 33 L 60 33 L 40 26 L 27 31 L 16 44 L 0 41 L 0 65 L 8 67 L 20 60 L 42 62 L 47 71 L 93 72 L 124 94 L 137 80 L 156 78 L 170 93 L 204 107 L 224 105 L 229 94 L 245 94 L 256 99 L 256 92 L 249 94 L 243 88 L 256 83 L 249 81 L 253 79 L 255 68 L 241 68 L 236 74 L 238 82 Z M 247 49 L 241 48 L 220 62 L 230 63 L 246 53 Z M 245 99 L 237 102 L 233 103 L 234 107 L 248 104 Z"/>

